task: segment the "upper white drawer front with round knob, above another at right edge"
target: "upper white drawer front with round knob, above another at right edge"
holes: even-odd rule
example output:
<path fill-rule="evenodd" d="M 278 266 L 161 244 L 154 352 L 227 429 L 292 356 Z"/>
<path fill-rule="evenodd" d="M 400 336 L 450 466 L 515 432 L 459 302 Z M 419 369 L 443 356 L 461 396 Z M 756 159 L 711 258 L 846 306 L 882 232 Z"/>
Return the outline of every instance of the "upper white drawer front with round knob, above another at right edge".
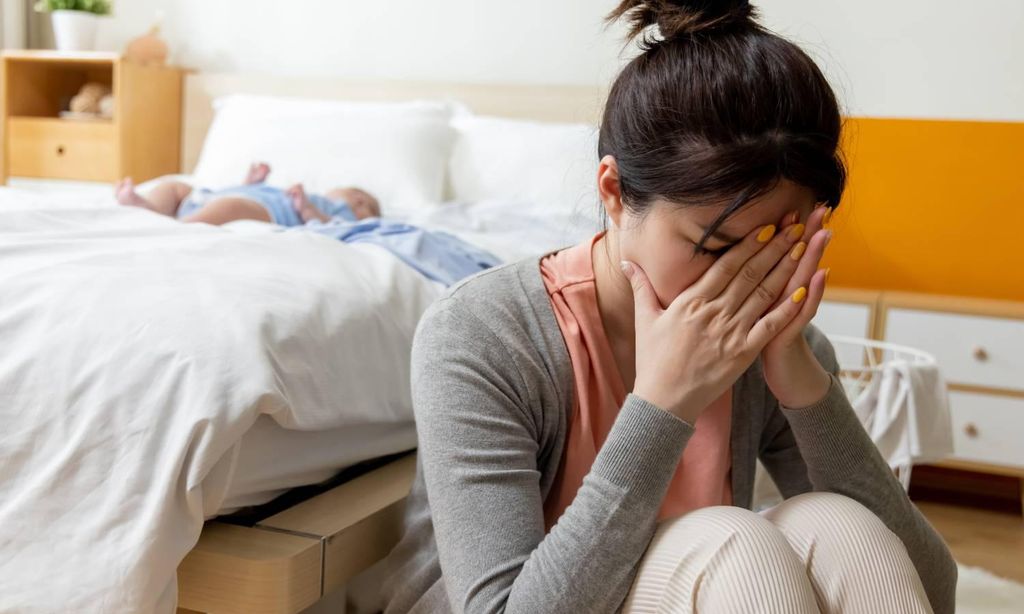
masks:
<path fill-rule="evenodd" d="M 934 354 L 950 384 L 1024 390 L 1024 320 L 890 309 L 886 341 Z"/>

